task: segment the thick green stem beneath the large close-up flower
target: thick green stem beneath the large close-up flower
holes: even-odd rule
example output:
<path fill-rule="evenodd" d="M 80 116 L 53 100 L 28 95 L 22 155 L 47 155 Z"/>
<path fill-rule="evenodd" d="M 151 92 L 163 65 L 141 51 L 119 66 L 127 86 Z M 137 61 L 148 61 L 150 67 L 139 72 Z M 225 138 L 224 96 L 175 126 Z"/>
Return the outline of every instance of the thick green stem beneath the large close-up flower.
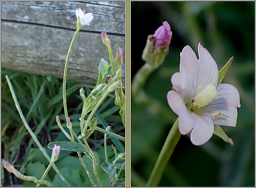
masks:
<path fill-rule="evenodd" d="M 149 177 L 148 183 L 146 187 L 156 187 L 161 179 L 163 174 L 163 170 L 169 161 L 173 150 L 175 149 L 179 139 L 180 139 L 180 131 L 178 128 L 179 125 L 179 118 L 174 122 L 173 127 L 171 128 L 162 150 L 158 156 L 156 164 L 153 168 L 153 171 Z"/>

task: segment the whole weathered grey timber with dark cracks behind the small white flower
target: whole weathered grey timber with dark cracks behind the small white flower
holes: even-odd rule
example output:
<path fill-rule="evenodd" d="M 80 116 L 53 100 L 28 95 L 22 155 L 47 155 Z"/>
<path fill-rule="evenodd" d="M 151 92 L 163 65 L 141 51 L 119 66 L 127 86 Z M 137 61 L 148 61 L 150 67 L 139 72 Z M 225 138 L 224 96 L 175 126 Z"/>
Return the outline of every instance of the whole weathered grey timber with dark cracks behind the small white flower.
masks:
<path fill-rule="evenodd" d="M 101 39 L 106 31 L 114 59 L 123 49 L 125 85 L 125 1 L 2 1 L 1 67 L 63 78 L 66 56 L 76 30 L 77 8 L 93 12 L 94 20 L 76 38 L 67 79 L 96 84 L 100 59 L 109 62 Z"/>

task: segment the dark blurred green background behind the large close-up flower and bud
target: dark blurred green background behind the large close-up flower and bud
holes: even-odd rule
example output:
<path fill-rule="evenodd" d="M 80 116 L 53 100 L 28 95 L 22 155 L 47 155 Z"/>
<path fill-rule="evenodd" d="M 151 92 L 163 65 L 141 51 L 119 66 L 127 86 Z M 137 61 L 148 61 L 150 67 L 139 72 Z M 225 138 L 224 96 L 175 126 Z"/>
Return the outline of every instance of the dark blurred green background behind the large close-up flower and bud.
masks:
<path fill-rule="evenodd" d="M 131 2 L 131 79 L 145 63 L 147 36 L 168 21 L 173 32 L 164 63 L 147 80 L 144 90 L 169 107 L 171 76 L 179 72 L 180 52 L 198 43 L 219 69 L 234 57 L 222 83 L 240 93 L 236 127 L 221 126 L 234 146 L 213 135 L 202 146 L 181 138 L 159 186 L 255 186 L 255 2 Z M 170 107 L 169 107 L 170 108 Z M 131 98 L 131 186 L 145 186 L 177 115 L 157 117 Z"/>

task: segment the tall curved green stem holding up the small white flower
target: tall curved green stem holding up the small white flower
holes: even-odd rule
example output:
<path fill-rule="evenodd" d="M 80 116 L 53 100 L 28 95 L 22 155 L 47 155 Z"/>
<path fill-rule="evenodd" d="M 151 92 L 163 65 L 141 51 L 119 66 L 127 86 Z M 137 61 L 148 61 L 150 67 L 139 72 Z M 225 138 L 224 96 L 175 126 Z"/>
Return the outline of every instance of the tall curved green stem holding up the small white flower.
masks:
<path fill-rule="evenodd" d="M 65 69 L 64 69 L 64 76 L 63 76 L 63 105 L 64 105 L 64 112 L 65 112 L 65 118 L 67 120 L 68 116 L 68 109 L 67 109 L 67 98 L 66 98 L 66 80 L 67 80 L 67 72 L 68 72 L 68 66 L 69 66 L 69 58 L 70 58 L 70 54 L 74 45 L 74 42 L 76 40 L 77 34 L 79 32 L 80 29 L 76 29 L 76 32 L 72 38 L 72 41 L 70 43 L 69 46 L 69 51 L 68 51 L 68 55 L 67 55 L 67 59 L 66 59 L 66 63 L 65 63 Z"/>

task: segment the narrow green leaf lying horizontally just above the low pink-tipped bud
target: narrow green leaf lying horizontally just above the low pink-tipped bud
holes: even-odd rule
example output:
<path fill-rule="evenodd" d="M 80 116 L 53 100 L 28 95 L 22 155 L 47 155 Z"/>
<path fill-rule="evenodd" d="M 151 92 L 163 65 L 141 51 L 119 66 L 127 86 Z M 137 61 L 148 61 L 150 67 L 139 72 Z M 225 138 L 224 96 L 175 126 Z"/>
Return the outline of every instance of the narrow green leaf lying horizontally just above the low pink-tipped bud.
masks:
<path fill-rule="evenodd" d="M 74 142 L 51 142 L 48 144 L 49 149 L 53 149 L 54 144 L 60 146 L 60 150 L 74 151 L 74 152 L 88 152 L 79 143 Z"/>

